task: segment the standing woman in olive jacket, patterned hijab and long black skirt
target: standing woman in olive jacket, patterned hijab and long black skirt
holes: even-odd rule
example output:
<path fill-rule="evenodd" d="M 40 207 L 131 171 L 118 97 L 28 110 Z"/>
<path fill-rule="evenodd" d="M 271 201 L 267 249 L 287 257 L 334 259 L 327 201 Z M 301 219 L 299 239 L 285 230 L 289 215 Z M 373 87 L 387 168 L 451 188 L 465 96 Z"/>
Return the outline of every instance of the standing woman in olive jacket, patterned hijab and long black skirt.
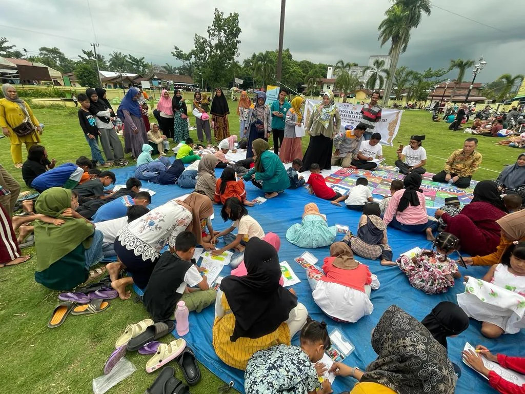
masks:
<path fill-rule="evenodd" d="M 310 170 L 312 163 L 319 164 L 321 170 L 332 168 L 332 139 L 340 128 L 339 109 L 334 102 L 333 92 L 327 90 L 308 118 L 305 129 L 310 134 L 310 142 L 299 172 Z"/>

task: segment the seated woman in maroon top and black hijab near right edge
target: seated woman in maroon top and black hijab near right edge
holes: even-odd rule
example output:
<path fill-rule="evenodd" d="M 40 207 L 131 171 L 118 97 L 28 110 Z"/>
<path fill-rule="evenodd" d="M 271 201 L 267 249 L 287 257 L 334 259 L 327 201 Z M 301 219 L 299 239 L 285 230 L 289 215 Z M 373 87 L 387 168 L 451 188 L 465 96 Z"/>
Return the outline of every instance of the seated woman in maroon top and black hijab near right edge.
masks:
<path fill-rule="evenodd" d="M 474 198 L 456 216 L 437 210 L 445 232 L 454 234 L 461 241 L 461 251 L 471 256 L 485 256 L 496 252 L 500 243 L 500 226 L 496 221 L 505 216 L 505 205 L 494 181 L 481 181 L 474 188 Z"/>

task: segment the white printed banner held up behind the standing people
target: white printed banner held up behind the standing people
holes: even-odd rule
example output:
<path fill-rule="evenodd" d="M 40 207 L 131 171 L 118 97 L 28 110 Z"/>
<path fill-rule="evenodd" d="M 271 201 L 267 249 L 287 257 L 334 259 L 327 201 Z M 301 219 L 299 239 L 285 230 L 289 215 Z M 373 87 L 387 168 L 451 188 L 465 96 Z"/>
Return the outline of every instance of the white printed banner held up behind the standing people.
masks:
<path fill-rule="evenodd" d="M 320 100 L 306 100 L 306 104 L 304 105 L 305 125 L 312 114 L 313 106 L 319 102 Z M 344 131 L 346 126 L 352 126 L 353 128 L 358 125 L 363 117 L 361 115 L 362 105 L 339 102 L 337 106 L 341 114 L 341 131 Z M 381 121 L 375 124 L 374 133 L 377 132 L 381 134 L 381 143 L 383 145 L 389 145 L 391 147 L 394 145 L 392 141 L 399 130 L 402 112 L 403 111 L 399 109 L 390 108 L 383 108 L 381 110 Z"/>

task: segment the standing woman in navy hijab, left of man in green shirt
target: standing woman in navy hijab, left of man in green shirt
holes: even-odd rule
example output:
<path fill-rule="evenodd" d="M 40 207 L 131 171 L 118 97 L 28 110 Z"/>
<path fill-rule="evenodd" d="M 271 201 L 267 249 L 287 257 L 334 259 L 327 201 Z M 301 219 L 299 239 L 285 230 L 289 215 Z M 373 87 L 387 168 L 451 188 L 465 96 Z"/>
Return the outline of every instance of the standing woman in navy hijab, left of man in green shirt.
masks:
<path fill-rule="evenodd" d="M 266 93 L 260 91 L 257 93 L 255 102 L 248 110 L 248 118 L 244 124 L 245 133 L 248 138 L 246 148 L 246 159 L 253 157 L 252 144 L 260 138 L 268 141 L 271 132 L 270 107 L 265 104 Z"/>

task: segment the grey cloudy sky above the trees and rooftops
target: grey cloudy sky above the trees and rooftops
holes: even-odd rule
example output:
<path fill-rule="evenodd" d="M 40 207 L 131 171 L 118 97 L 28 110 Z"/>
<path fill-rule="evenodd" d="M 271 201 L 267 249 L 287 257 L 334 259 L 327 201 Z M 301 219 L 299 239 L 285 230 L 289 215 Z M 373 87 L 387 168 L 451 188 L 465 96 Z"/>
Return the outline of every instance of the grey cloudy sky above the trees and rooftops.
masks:
<path fill-rule="evenodd" d="M 522 1 L 434 3 L 447 11 L 433 6 L 432 14 L 423 17 L 412 30 L 400 66 L 415 70 L 447 67 L 450 59 L 477 60 L 484 55 L 487 66 L 477 77 L 480 82 L 506 72 L 525 73 Z M 377 41 L 377 26 L 390 4 L 388 0 L 288 0 L 284 47 L 290 48 L 297 60 L 335 63 L 343 59 L 364 65 L 370 55 L 388 52 L 388 43 L 381 48 Z M 56 46 L 75 58 L 96 41 L 106 56 L 117 50 L 154 63 L 176 65 L 171 56 L 173 45 L 191 50 L 195 34 L 206 36 L 215 7 L 225 14 L 239 14 L 240 61 L 254 52 L 277 48 L 279 0 L 3 0 L 0 36 L 30 54 L 36 54 L 41 46 Z M 449 76 L 455 75 L 454 71 Z M 470 77 L 468 72 L 466 79 Z"/>

